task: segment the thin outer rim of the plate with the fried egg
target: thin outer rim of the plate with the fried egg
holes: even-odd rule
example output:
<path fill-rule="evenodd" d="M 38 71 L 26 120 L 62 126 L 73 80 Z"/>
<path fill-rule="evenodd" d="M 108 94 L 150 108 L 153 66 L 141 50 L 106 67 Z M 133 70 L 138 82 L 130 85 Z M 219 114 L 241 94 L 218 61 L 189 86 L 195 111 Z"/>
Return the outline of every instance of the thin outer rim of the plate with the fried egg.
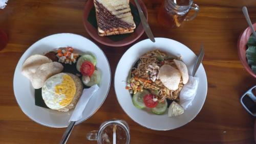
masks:
<path fill-rule="evenodd" d="M 37 43 L 38 41 L 40 41 L 40 40 L 42 40 L 42 39 L 44 39 L 44 38 L 47 38 L 47 37 L 50 37 L 50 36 L 56 36 L 56 35 L 75 35 L 75 36 L 80 36 L 80 37 L 82 37 L 82 38 L 85 38 L 85 39 L 91 41 L 90 39 L 88 39 L 88 38 L 86 38 L 86 37 L 84 37 L 84 36 L 81 36 L 81 35 L 78 35 L 78 34 L 74 34 L 74 33 L 56 33 L 56 34 L 52 34 L 52 35 L 48 35 L 48 36 L 46 36 L 46 37 L 40 38 L 39 40 L 37 40 L 36 42 L 34 42 L 33 44 L 31 44 L 31 45 L 28 47 L 28 49 L 23 53 L 23 55 L 30 49 L 30 47 L 31 47 L 32 45 L 34 45 L 34 44 Z M 104 98 L 104 100 L 102 101 L 102 103 L 99 105 L 99 107 L 98 107 L 90 116 L 88 116 L 87 118 L 83 119 L 82 121 L 80 121 L 80 122 L 78 122 L 78 123 L 75 123 L 75 125 L 81 124 L 82 122 L 86 121 L 87 119 L 89 119 L 91 116 L 93 116 L 93 115 L 99 110 L 99 108 L 100 108 L 100 107 L 102 106 L 102 104 L 105 102 L 106 97 L 108 97 L 109 91 L 110 91 L 110 86 L 111 86 L 111 67 L 110 67 L 110 63 L 109 63 L 108 57 L 106 57 L 105 53 L 102 51 L 102 49 L 100 49 L 100 47 L 99 47 L 95 42 L 93 42 L 93 41 L 91 41 L 91 42 L 94 43 L 94 44 L 99 48 L 99 50 L 103 53 L 104 57 L 106 58 L 106 62 L 108 63 L 109 70 L 110 70 L 110 83 L 109 83 L 108 91 L 106 92 L 105 98 Z M 22 56 L 23 56 L 23 55 L 22 55 Z M 18 62 L 20 61 L 20 59 L 22 58 L 22 56 L 19 58 Z M 36 122 L 36 123 L 39 124 L 39 125 L 46 126 L 46 127 L 50 127 L 50 128 L 67 128 L 68 125 L 67 125 L 67 126 L 62 126 L 62 127 L 59 127 L 59 126 L 54 127 L 54 126 L 48 126 L 48 125 L 45 125 L 45 124 L 41 124 L 40 122 L 37 122 L 34 118 L 30 117 L 26 112 L 24 112 L 24 110 L 22 109 L 22 107 L 20 107 L 20 105 L 19 105 L 19 103 L 18 103 L 18 101 L 17 101 L 17 98 L 16 98 L 15 90 L 14 90 L 14 89 L 15 89 L 15 88 L 14 88 L 15 75 L 16 75 L 16 73 L 18 73 L 18 70 L 17 70 L 18 62 L 17 62 L 17 65 L 16 65 L 16 67 L 15 67 L 15 71 L 14 71 L 14 75 L 13 75 L 13 92 L 14 92 L 15 100 L 16 100 L 16 102 L 17 102 L 17 104 L 18 104 L 20 110 L 22 110 L 22 112 L 23 112 L 27 117 L 29 117 L 32 121 Z"/>

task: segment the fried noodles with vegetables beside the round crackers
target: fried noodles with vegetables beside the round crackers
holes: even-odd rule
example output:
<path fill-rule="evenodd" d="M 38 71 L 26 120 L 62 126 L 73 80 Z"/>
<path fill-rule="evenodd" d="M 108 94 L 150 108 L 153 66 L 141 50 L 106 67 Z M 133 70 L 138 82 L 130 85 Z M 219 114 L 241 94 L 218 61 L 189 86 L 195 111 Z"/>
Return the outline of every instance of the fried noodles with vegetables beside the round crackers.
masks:
<path fill-rule="evenodd" d="M 164 61 L 159 60 L 161 58 L 164 58 Z M 179 58 L 176 58 L 179 59 Z M 156 91 L 156 95 L 158 97 L 158 101 L 161 102 L 164 99 L 170 99 L 170 100 L 179 100 L 179 93 L 183 87 L 182 78 L 179 83 L 177 90 L 169 90 L 166 88 L 163 83 L 158 79 L 158 76 L 155 81 L 151 80 L 150 72 L 148 71 L 148 65 L 157 65 L 161 67 L 163 64 L 168 64 L 176 69 L 177 66 L 174 63 L 174 58 L 168 58 L 168 55 L 164 52 L 161 52 L 160 50 L 154 50 L 151 52 L 148 52 L 144 55 L 142 55 L 139 59 L 139 63 L 137 67 L 132 68 L 132 79 L 136 78 L 137 81 L 139 81 L 139 84 L 141 85 L 141 88 L 150 89 L 152 91 Z M 158 75 L 158 70 L 157 70 Z"/>

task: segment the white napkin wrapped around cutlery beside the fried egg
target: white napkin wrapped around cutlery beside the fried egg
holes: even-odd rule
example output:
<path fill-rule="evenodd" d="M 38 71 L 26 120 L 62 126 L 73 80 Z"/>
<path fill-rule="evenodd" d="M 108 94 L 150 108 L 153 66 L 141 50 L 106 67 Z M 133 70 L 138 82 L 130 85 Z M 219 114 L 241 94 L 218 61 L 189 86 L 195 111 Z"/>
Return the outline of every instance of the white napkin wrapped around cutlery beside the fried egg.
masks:
<path fill-rule="evenodd" d="M 82 95 L 79 99 L 79 101 L 76 104 L 76 107 L 69 119 L 69 122 L 71 121 L 78 121 L 82 118 L 82 112 L 86 108 L 87 103 L 92 98 L 94 93 L 99 89 L 98 85 L 93 85 L 90 88 L 84 88 L 82 91 Z"/>

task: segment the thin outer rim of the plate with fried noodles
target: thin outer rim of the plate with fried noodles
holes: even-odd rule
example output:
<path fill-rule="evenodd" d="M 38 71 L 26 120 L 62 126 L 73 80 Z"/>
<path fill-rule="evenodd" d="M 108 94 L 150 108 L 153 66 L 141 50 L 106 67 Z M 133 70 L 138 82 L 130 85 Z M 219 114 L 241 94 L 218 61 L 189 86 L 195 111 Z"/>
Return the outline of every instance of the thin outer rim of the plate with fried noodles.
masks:
<path fill-rule="evenodd" d="M 164 37 L 155 37 L 155 39 L 156 39 L 156 40 L 157 40 L 157 39 L 174 40 L 174 39 L 164 38 Z M 139 42 L 146 41 L 146 40 L 150 40 L 150 39 L 144 39 L 144 40 L 141 40 L 141 41 L 139 41 Z M 180 43 L 180 44 L 186 46 L 185 44 L 183 44 L 183 43 L 181 43 L 181 42 L 179 42 L 179 41 L 177 41 L 177 40 L 174 40 L 174 41 L 176 41 L 176 42 L 178 42 L 178 43 Z M 133 47 L 134 45 L 138 44 L 139 42 L 133 44 L 131 47 Z M 124 52 L 124 54 L 125 54 L 127 51 L 129 51 L 129 50 L 131 49 L 131 47 L 129 47 L 129 49 L 127 49 L 127 50 Z M 187 47 L 187 46 L 186 46 L 186 47 Z M 187 49 L 190 50 L 189 47 L 187 47 Z M 131 51 L 131 50 L 130 50 L 130 51 Z M 193 52 L 192 50 L 190 50 L 190 51 Z M 124 55 L 124 54 L 123 54 L 123 55 Z M 195 54 L 195 53 L 193 52 L 193 54 Z M 120 60 L 123 58 L 123 55 L 122 55 L 122 57 L 119 59 L 119 62 L 120 62 Z M 195 55 L 196 55 L 196 54 L 195 54 Z M 126 111 L 123 109 L 123 107 L 122 107 L 122 105 L 120 104 L 120 102 L 119 102 L 119 100 L 118 100 L 118 97 L 117 97 L 116 87 L 115 87 L 115 79 L 116 79 L 117 67 L 118 67 L 118 65 L 119 65 L 119 62 L 118 62 L 117 66 L 116 66 L 116 69 L 115 69 L 114 83 L 113 83 L 113 84 L 114 84 L 115 94 L 116 94 L 116 99 L 117 99 L 117 101 L 118 101 L 120 107 L 122 108 L 122 110 L 125 112 L 125 114 L 128 115 L 135 123 L 139 124 L 140 126 L 142 126 L 142 127 L 144 127 L 144 128 L 147 128 L 147 129 L 151 129 L 151 130 L 156 130 L 156 131 L 175 130 L 175 129 L 181 128 L 181 127 L 187 125 L 188 123 L 190 123 L 191 121 L 193 121 L 193 119 L 194 119 L 194 118 L 200 113 L 200 111 L 202 110 L 202 108 L 203 108 L 203 106 L 204 106 L 204 103 L 205 103 L 205 100 L 206 100 L 206 97 L 207 97 L 208 81 L 207 81 L 206 71 L 205 71 L 205 69 L 204 69 L 204 67 L 203 67 L 203 64 L 201 63 L 200 65 L 202 65 L 202 68 L 203 68 L 203 70 L 204 70 L 204 72 L 205 72 L 205 78 L 206 78 L 206 79 L 205 79 L 205 80 L 206 80 L 206 90 L 205 90 L 206 94 L 205 94 L 205 97 L 204 97 L 203 104 L 202 104 L 202 106 L 200 106 L 199 111 L 197 112 L 197 114 L 196 114 L 195 116 L 193 116 L 193 118 L 190 119 L 189 122 L 187 122 L 187 123 L 185 123 L 185 124 L 183 124 L 183 125 L 181 125 L 181 126 L 179 126 L 179 127 L 177 127 L 177 128 L 174 128 L 174 129 L 172 129 L 172 128 L 171 128 L 171 129 L 155 129 L 155 128 L 150 128 L 150 127 L 144 126 L 144 125 L 142 125 L 142 124 L 136 122 L 136 121 L 134 120 L 134 118 L 132 118 L 129 114 L 126 113 Z"/>

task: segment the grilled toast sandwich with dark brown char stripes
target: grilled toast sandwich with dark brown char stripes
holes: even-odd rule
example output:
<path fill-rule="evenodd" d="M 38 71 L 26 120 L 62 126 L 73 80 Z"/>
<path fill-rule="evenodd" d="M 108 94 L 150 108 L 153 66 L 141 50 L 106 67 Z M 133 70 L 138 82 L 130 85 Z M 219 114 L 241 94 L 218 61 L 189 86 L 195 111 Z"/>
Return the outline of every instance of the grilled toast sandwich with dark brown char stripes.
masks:
<path fill-rule="evenodd" d="M 100 36 L 132 33 L 136 28 L 129 1 L 94 0 Z"/>

